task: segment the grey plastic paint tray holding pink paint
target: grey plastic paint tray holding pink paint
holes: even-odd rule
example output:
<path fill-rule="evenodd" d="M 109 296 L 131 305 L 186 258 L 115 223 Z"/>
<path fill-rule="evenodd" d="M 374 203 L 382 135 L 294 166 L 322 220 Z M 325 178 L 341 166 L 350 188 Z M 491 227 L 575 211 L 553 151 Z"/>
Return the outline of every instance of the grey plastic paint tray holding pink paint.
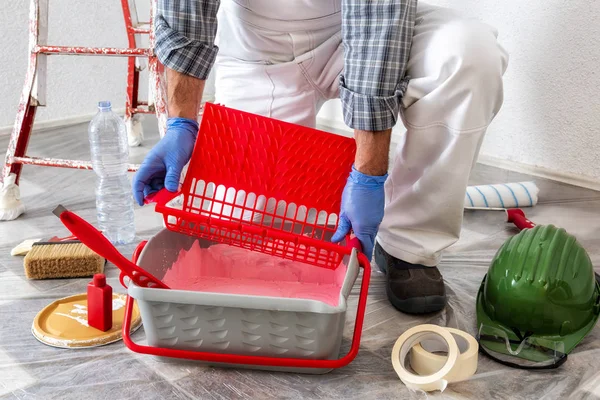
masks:
<path fill-rule="evenodd" d="M 163 229 L 148 241 L 137 264 L 162 278 L 181 249 L 198 240 Z M 340 355 L 347 299 L 358 276 L 356 250 L 343 258 L 347 266 L 337 307 L 316 300 L 246 296 L 144 288 L 130 283 L 137 301 L 147 344 L 191 352 L 334 360 Z M 314 267 L 318 268 L 318 267 Z M 231 363 L 210 363 L 271 369 Z M 325 373 L 331 368 L 276 367 L 276 370 Z"/>

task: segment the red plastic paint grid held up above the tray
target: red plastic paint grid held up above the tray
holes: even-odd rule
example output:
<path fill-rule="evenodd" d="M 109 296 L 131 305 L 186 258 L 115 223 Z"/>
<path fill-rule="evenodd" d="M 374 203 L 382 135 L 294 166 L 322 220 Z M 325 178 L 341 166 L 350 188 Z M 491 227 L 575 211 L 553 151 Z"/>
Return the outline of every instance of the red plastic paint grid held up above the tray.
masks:
<path fill-rule="evenodd" d="M 167 227 L 337 267 L 342 256 L 329 239 L 354 155 L 352 138 L 207 104 L 183 213 L 167 208 Z"/>

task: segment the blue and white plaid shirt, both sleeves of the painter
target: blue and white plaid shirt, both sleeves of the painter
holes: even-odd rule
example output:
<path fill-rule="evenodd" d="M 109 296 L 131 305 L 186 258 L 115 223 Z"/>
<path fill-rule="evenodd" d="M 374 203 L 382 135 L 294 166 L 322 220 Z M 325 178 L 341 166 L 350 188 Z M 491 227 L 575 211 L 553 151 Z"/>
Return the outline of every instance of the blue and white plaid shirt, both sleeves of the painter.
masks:
<path fill-rule="evenodd" d="M 274 0 L 285 1 L 285 0 Z M 342 0 L 344 71 L 340 99 L 353 129 L 393 127 L 408 77 L 417 0 Z M 167 67 L 206 79 L 218 48 L 219 0 L 158 0 L 156 55 Z"/>

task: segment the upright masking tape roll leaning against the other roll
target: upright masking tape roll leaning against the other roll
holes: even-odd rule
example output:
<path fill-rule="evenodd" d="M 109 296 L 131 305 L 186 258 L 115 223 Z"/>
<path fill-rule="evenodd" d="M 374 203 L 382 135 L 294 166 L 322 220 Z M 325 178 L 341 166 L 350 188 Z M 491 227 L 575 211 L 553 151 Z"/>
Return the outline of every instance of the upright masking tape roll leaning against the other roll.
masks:
<path fill-rule="evenodd" d="M 448 356 L 441 368 L 430 375 L 415 375 L 409 372 L 405 365 L 406 357 L 410 349 L 424 340 L 442 340 L 446 343 Z M 443 391 L 448 385 L 446 375 L 450 373 L 458 359 L 458 345 L 454 337 L 447 329 L 437 325 L 418 325 L 404 332 L 392 349 L 392 365 L 398 377 L 404 384 L 414 390 L 424 390 L 426 392 L 440 390 Z"/>

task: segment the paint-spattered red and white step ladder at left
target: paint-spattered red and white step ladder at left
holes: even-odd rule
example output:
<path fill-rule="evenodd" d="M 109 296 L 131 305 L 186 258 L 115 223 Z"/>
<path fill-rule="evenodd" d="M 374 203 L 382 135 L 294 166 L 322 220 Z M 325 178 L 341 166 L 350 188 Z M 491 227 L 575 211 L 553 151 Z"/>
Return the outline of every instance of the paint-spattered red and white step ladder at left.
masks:
<path fill-rule="evenodd" d="M 16 219 L 24 211 L 18 188 L 23 165 L 92 169 L 91 161 L 34 157 L 27 154 L 33 121 L 38 107 L 46 105 L 46 58 L 50 55 L 128 57 L 127 100 L 125 123 L 130 145 L 141 144 L 141 124 L 138 114 L 156 114 L 160 136 L 164 135 L 167 118 L 166 85 L 164 68 L 154 55 L 154 24 L 156 0 L 151 1 L 150 21 L 138 22 L 135 0 L 121 0 L 127 31 L 128 47 L 77 47 L 51 46 L 48 40 L 49 0 L 30 0 L 29 14 L 29 60 L 27 75 L 17 117 L 6 151 L 2 172 L 3 187 L 0 190 L 0 221 Z M 149 35 L 149 48 L 138 47 L 141 35 Z M 138 98 L 140 71 L 147 63 L 150 81 L 149 99 Z M 136 171 L 138 165 L 129 165 Z"/>

